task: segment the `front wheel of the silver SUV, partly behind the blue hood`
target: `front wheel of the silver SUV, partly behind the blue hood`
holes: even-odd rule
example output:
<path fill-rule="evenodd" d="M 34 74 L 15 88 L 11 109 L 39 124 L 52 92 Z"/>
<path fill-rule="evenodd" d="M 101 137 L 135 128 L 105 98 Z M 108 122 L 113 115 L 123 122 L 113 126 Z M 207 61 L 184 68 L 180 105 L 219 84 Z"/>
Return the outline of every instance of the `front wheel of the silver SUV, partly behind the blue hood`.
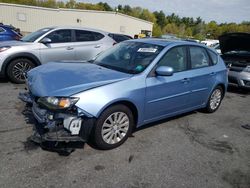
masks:
<path fill-rule="evenodd" d="M 34 68 L 35 64 L 26 58 L 14 59 L 10 62 L 7 67 L 8 78 L 17 84 L 25 83 L 25 77 L 23 73 L 28 72 L 30 69 Z M 19 69 L 19 70 L 18 70 Z"/>

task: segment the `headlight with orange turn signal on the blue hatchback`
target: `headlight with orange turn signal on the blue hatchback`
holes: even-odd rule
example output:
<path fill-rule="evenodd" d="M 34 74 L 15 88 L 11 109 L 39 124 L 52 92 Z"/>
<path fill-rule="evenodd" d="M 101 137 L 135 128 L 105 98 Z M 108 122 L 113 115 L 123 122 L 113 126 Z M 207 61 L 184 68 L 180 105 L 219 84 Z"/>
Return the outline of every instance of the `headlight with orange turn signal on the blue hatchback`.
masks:
<path fill-rule="evenodd" d="M 78 100 L 77 97 L 41 97 L 37 103 L 51 110 L 61 110 L 72 107 Z"/>

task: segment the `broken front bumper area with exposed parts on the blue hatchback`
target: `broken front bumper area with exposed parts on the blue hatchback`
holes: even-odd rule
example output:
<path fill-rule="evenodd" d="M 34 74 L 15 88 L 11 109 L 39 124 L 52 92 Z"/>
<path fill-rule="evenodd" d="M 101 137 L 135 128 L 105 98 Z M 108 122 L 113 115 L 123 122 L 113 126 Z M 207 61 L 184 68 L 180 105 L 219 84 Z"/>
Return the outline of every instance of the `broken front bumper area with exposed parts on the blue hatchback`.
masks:
<path fill-rule="evenodd" d="M 35 117 L 34 134 L 31 139 L 41 143 L 87 142 L 95 123 L 95 118 L 85 116 L 80 109 L 71 111 L 50 111 L 41 108 L 30 93 L 20 93 L 19 98 L 28 103 Z"/>

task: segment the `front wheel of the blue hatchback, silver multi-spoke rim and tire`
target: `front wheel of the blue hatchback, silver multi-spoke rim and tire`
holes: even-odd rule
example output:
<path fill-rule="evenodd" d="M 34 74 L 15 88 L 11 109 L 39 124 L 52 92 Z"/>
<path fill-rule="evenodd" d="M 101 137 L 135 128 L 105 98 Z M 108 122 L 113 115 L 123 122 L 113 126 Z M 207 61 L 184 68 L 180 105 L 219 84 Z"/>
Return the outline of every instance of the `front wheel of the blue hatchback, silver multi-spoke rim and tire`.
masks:
<path fill-rule="evenodd" d="M 94 141 L 100 149 L 113 149 L 123 144 L 131 133 L 134 118 L 124 105 L 106 109 L 96 122 Z"/>

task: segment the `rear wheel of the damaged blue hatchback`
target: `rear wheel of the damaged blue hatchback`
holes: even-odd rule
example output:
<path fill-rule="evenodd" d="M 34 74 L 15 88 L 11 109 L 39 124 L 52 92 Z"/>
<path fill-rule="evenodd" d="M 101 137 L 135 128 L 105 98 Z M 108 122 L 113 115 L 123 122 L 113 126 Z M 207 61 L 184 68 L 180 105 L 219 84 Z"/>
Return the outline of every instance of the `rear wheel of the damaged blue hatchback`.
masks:
<path fill-rule="evenodd" d="M 208 113 L 215 112 L 219 108 L 222 98 L 223 98 L 223 89 L 220 86 L 217 86 L 209 97 L 206 106 L 206 111 Z"/>

